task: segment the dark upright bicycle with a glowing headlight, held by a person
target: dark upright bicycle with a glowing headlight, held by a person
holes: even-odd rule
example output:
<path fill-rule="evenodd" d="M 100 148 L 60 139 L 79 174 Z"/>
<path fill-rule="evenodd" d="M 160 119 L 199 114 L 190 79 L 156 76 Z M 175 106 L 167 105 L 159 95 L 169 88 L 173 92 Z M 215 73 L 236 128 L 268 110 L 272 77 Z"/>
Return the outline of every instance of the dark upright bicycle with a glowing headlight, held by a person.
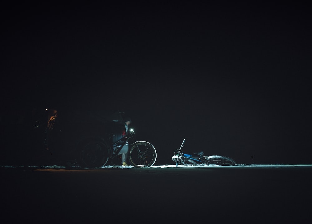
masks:
<path fill-rule="evenodd" d="M 86 168 L 101 168 L 107 161 L 113 162 L 127 146 L 129 146 L 129 161 L 134 167 L 154 165 L 157 158 L 155 147 L 147 141 L 136 141 L 133 129 L 110 145 L 105 141 L 86 141 L 80 149 L 80 163 Z"/>

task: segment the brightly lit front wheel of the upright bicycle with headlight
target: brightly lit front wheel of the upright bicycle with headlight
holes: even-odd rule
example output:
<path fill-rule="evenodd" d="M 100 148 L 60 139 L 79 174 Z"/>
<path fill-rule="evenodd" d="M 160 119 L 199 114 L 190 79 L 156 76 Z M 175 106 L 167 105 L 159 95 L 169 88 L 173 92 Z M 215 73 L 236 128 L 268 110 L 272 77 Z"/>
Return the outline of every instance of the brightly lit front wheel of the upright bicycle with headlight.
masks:
<path fill-rule="evenodd" d="M 156 162 L 155 147 L 147 141 L 137 141 L 130 149 L 130 163 L 137 168 L 152 166 Z"/>

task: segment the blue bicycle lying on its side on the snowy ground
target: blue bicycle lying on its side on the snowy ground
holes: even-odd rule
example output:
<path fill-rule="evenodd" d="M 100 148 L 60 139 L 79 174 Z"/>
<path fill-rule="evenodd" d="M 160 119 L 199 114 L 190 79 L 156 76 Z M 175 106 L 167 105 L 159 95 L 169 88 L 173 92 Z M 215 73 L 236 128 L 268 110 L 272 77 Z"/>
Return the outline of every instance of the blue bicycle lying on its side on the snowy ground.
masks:
<path fill-rule="evenodd" d="M 186 165 L 186 166 L 195 166 L 195 165 L 201 165 L 201 164 L 216 164 L 216 165 L 222 165 L 222 166 L 232 166 L 235 165 L 236 162 L 232 158 L 222 156 L 222 155 L 210 155 L 210 156 L 204 156 L 203 152 L 194 152 L 194 155 L 190 154 L 184 154 L 181 150 L 184 141 L 182 142 L 182 145 L 180 149 L 177 149 L 174 151 L 172 160 L 180 165 Z"/>

